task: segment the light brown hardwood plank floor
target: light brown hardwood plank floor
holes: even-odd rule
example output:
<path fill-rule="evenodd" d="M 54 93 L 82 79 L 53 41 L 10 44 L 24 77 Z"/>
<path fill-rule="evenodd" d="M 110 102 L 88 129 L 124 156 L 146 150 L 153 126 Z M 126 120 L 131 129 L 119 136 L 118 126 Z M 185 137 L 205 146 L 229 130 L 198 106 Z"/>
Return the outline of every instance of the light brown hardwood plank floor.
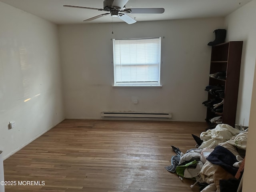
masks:
<path fill-rule="evenodd" d="M 203 122 L 64 120 L 4 161 L 6 192 L 198 192 L 164 166 Z M 36 181 L 45 185 L 18 185 Z M 26 184 L 24 182 L 24 184 Z"/>

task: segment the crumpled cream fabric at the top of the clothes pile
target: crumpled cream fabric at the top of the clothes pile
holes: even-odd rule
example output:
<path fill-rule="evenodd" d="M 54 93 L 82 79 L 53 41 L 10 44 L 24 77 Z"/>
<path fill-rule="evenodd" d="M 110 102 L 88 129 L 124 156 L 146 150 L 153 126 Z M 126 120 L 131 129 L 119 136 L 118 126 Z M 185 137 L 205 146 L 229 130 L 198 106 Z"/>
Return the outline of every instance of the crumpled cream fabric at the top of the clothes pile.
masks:
<path fill-rule="evenodd" d="M 226 142 L 230 140 L 232 136 L 238 135 L 239 133 L 239 130 L 228 124 L 218 124 L 214 129 L 207 130 L 200 134 L 200 139 L 204 142 L 198 148 L 215 148 L 219 143 Z"/>

